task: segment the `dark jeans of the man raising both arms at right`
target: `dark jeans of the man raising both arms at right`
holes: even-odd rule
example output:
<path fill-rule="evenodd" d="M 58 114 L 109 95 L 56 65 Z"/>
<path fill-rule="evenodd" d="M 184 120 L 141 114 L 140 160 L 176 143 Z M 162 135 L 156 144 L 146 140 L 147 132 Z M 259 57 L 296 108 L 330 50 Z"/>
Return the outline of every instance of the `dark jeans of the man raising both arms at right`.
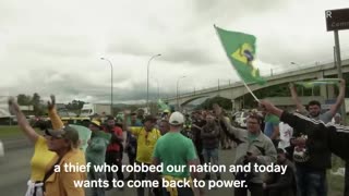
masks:
<path fill-rule="evenodd" d="M 326 170 L 296 166 L 297 194 L 299 196 L 327 196 Z"/>

